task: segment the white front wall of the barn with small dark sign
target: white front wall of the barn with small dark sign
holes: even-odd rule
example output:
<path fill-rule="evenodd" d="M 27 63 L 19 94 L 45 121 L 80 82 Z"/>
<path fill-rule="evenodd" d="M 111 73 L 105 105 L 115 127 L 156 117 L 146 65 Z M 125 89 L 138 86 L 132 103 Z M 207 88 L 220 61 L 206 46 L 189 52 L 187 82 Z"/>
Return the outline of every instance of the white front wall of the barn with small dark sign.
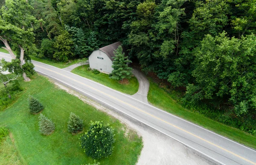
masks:
<path fill-rule="evenodd" d="M 89 56 L 89 64 L 91 69 L 97 69 L 100 72 L 111 73 L 113 70 L 112 61 L 108 58 L 108 55 L 101 50 L 95 50 L 92 52 Z"/>

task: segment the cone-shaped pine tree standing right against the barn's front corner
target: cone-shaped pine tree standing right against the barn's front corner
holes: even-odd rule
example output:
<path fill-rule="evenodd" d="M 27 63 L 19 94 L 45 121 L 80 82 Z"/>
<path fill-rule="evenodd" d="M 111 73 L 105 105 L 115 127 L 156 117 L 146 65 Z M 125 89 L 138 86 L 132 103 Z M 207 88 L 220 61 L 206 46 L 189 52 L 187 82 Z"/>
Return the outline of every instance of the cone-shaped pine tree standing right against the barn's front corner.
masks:
<path fill-rule="evenodd" d="M 112 72 L 109 75 L 110 78 L 113 78 L 115 80 L 122 80 L 124 78 L 131 78 L 131 67 L 128 67 L 127 63 L 131 63 L 130 60 L 128 60 L 128 57 L 125 57 L 125 54 L 122 52 L 122 46 L 118 46 L 118 48 L 115 50 L 115 56 L 113 57 L 113 65 L 112 65 Z"/>

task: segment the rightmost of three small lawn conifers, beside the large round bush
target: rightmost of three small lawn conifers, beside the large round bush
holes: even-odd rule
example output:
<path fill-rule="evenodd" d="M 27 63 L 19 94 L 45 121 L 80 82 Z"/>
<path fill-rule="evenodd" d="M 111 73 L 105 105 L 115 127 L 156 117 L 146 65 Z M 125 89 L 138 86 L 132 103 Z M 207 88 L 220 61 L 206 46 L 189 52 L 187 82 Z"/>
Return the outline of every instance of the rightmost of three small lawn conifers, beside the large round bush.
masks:
<path fill-rule="evenodd" d="M 83 130 L 84 124 L 83 121 L 79 118 L 79 116 L 76 116 L 75 113 L 70 113 L 69 120 L 67 122 L 67 129 L 71 133 L 77 133 L 81 130 Z"/>

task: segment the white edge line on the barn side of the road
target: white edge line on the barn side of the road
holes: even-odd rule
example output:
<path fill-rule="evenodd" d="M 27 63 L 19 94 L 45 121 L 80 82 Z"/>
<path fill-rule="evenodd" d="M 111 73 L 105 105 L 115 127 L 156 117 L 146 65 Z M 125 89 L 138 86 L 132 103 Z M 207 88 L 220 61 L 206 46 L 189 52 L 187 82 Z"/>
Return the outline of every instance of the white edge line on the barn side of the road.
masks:
<path fill-rule="evenodd" d="M 35 61 L 35 60 L 32 60 L 32 61 Z M 36 62 L 39 62 L 39 61 L 36 61 Z M 42 62 L 39 62 L 39 63 L 42 63 Z M 44 63 L 42 63 L 42 64 L 44 64 Z M 49 65 L 49 64 L 45 64 L 45 65 Z M 54 67 L 54 66 L 52 66 L 52 65 L 49 65 L 49 66 Z M 55 67 L 55 68 L 61 69 L 61 68 L 58 68 L 58 67 Z M 62 68 L 61 70 L 64 70 L 64 68 Z M 65 72 L 68 72 L 67 70 L 64 70 L 64 71 L 65 71 Z M 68 72 L 68 73 L 71 73 L 71 74 L 73 74 L 73 75 L 77 75 L 77 74 L 72 73 L 72 72 Z M 79 76 L 79 77 L 81 77 L 81 78 L 84 78 L 84 79 L 86 79 L 86 80 L 92 81 L 92 82 L 94 82 L 94 83 L 96 83 L 96 84 L 99 84 L 98 82 L 95 82 L 95 81 L 90 80 L 90 79 L 88 79 L 88 78 L 82 77 L 82 76 L 80 76 L 80 75 L 77 75 L 77 76 Z M 105 86 L 105 85 L 102 85 L 102 84 L 99 84 L 99 85 L 101 85 L 101 86 L 103 86 L 103 87 L 106 87 L 106 88 L 108 88 L 108 89 L 110 89 L 110 90 L 113 90 L 112 88 L 107 87 L 107 86 Z M 133 98 L 133 97 L 131 97 L 131 96 L 129 96 L 129 95 L 126 95 L 126 94 L 124 94 L 124 93 L 121 93 L 121 92 L 119 92 L 119 91 L 117 91 L 117 90 L 113 90 L 113 91 L 115 91 L 115 92 L 117 92 L 117 93 L 120 93 L 120 94 L 122 94 L 122 95 L 124 95 L 124 96 L 130 97 L 130 98 L 132 98 L 132 99 L 134 99 L 134 100 L 136 100 L 136 101 L 140 101 L 140 100 L 137 100 L 136 98 Z M 168 113 L 168 112 L 166 112 L 166 111 L 164 111 L 164 110 L 161 110 L 161 109 L 159 109 L 159 108 L 157 108 L 157 107 L 154 107 L 154 106 L 152 106 L 151 104 L 146 104 L 146 103 L 144 103 L 144 102 L 142 102 L 142 101 L 140 101 L 140 102 L 143 103 L 143 104 L 145 104 L 145 105 L 148 105 L 148 106 L 150 106 L 150 107 L 153 107 L 153 108 L 155 108 L 155 109 L 157 109 L 157 110 L 160 110 L 160 111 L 162 111 L 163 113 L 167 113 L 167 114 L 169 114 L 169 115 L 171 115 L 171 116 L 174 116 L 174 117 L 176 117 L 176 118 L 178 118 L 178 119 L 180 119 L 180 120 L 183 120 L 184 122 L 188 122 L 189 124 L 195 125 L 195 126 L 201 128 L 201 129 L 203 129 L 203 130 L 207 130 L 207 129 L 204 128 L 204 127 L 201 127 L 201 126 L 199 126 L 199 125 L 197 125 L 197 124 L 194 124 L 194 123 L 192 123 L 192 122 L 189 122 L 189 121 L 187 121 L 187 120 L 185 120 L 185 119 L 182 119 L 182 118 L 180 118 L 180 117 L 178 117 L 178 116 L 175 116 L 175 115 L 173 115 L 173 114 L 171 114 L 171 113 Z M 212 119 L 210 119 L 210 120 L 212 120 Z M 213 120 L 213 121 L 214 121 L 214 120 Z M 215 121 L 215 122 L 216 122 L 216 121 Z M 221 124 L 222 124 L 222 123 L 221 123 Z M 227 126 L 228 126 L 228 125 L 227 125 Z M 230 127 L 230 126 L 228 126 L 228 127 Z M 211 130 L 207 130 L 207 131 L 210 132 L 210 133 L 213 133 L 213 134 L 215 134 L 215 135 L 217 135 L 217 136 L 220 136 L 220 137 L 222 137 L 222 138 L 224 138 L 224 139 L 227 139 L 227 140 L 229 140 L 230 142 L 234 142 L 234 143 L 236 143 L 236 144 L 238 144 L 238 145 L 243 146 L 244 148 L 247 148 L 247 149 L 250 149 L 251 151 L 256 152 L 256 151 L 253 150 L 252 148 L 249 148 L 249 147 L 244 146 L 244 145 L 242 145 L 242 144 L 240 144 L 240 143 L 238 143 L 238 142 L 235 142 L 235 141 L 233 141 L 233 140 L 231 140 L 231 139 L 228 139 L 228 138 L 226 138 L 226 137 L 224 137 L 224 136 L 221 136 L 221 135 L 219 135 L 218 133 L 212 132 Z"/>

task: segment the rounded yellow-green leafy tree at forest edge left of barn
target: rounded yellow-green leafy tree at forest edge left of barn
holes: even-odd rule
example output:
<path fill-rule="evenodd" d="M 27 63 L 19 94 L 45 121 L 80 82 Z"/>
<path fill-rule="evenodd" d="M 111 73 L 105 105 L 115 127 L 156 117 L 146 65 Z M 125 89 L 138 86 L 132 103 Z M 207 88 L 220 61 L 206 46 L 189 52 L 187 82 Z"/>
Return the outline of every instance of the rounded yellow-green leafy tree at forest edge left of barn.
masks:
<path fill-rule="evenodd" d="M 55 37 L 55 53 L 53 58 L 58 61 L 68 61 L 71 57 L 74 56 L 73 50 L 73 41 L 70 38 L 70 35 L 67 31 L 63 31 L 61 35 Z"/>

